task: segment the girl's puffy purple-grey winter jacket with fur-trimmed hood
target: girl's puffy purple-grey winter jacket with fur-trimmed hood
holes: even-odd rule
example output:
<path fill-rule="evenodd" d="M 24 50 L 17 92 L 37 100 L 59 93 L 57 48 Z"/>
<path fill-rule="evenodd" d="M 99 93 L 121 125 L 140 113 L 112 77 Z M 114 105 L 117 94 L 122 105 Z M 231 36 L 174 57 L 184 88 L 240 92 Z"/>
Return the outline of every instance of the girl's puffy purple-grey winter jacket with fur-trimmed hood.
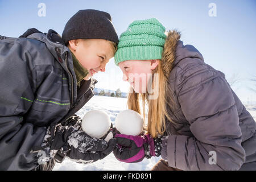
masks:
<path fill-rule="evenodd" d="M 164 53 L 174 103 L 168 105 L 162 155 L 183 170 L 256 170 L 256 123 L 224 73 L 204 63 L 180 34 L 169 33 Z M 168 49 L 168 50 L 166 50 Z M 170 69 L 170 68 L 169 68 Z M 171 102 L 170 102 L 171 103 Z"/>

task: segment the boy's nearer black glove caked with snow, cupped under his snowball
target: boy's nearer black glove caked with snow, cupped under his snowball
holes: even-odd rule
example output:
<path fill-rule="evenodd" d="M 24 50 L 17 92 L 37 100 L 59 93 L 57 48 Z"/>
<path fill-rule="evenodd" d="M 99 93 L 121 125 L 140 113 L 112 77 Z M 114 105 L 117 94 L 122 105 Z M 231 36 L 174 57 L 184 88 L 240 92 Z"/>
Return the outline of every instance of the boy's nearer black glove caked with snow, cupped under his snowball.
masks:
<path fill-rule="evenodd" d="M 60 150 L 62 154 L 76 160 L 78 163 L 92 163 L 109 155 L 116 145 L 112 131 L 104 139 L 92 138 L 84 131 L 71 126 L 57 125 L 52 130 L 54 136 L 49 141 L 51 150 Z M 112 138 L 109 137 L 112 135 Z"/>

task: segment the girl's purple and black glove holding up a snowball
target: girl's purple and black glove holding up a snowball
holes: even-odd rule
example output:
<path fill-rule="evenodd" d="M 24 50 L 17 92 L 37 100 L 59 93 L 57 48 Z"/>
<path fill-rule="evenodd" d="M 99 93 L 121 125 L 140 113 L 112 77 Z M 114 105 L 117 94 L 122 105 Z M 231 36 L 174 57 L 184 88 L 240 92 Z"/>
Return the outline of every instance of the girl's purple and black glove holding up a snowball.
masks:
<path fill-rule="evenodd" d="M 152 138 L 150 134 L 138 136 L 115 134 L 117 146 L 113 154 L 121 162 L 137 163 L 144 157 L 160 156 L 162 150 L 162 137 Z"/>

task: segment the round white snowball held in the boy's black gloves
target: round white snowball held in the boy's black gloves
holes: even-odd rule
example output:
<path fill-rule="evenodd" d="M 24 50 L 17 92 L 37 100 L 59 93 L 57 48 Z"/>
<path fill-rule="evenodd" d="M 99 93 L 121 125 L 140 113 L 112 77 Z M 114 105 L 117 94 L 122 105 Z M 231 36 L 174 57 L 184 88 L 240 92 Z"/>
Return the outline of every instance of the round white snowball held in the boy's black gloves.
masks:
<path fill-rule="evenodd" d="M 101 110 L 88 111 L 82 118 L 82 130 L 90 137 L 101 138 L 110 129 L 111 120 L 108 114 Z"/>

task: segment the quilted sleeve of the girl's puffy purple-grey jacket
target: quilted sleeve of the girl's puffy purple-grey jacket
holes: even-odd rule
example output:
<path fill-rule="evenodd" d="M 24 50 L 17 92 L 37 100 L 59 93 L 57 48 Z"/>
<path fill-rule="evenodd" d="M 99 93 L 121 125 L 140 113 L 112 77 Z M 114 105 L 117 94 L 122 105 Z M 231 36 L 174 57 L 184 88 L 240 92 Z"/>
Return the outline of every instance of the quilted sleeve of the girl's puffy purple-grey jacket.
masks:
<path fill-rule="evenodd" d="M 238 170 L 245 162 L 237 108 L 224 73 L 189 70 L 178 79 L 177 97 L 192 137 L 170 135 L 167 158 L 183 170 Z"/>

